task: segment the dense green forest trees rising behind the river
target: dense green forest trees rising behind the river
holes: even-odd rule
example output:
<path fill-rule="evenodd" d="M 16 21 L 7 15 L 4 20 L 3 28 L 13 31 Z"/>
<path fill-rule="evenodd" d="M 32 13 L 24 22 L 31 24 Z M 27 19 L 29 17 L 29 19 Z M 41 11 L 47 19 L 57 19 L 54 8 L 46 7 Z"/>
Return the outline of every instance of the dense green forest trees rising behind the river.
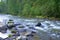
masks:
<path fill-rule="evenodd" d="M 0 12 L 25 17 L 60 18 L 60 0 L 6 0 Z"/>

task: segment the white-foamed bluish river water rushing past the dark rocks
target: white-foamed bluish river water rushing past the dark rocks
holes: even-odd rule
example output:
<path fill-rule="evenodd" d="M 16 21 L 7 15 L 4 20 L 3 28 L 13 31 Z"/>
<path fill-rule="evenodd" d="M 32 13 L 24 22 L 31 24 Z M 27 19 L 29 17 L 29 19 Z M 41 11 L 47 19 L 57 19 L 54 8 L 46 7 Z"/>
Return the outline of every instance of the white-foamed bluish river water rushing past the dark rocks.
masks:
<path fill-rule="evenodd" d="M 36 31 L 37 34 L 39 35 L 40 40 L 60 40 L 60 21 L 57 20 L 48 20 L 48 19 L 37 19 L 37 18 L 18 18 L 16 16 L 11 16 L 11 15 L 5 15 L 3 16 L 4 21 L 2 21 L 2 19 L 0 18 L 0 20 L 2 22 L 4 22 L 5 24 L 7 24 L 6 22 L 9 19 L 13 19 L 14 23 L 20 23 L 23 26 L 27 27 L 33 27 L 33 31 Z M 38 22 L 41 23 L 41 26 L 35 26 Z M 28 29 L 28 28 L 27 28 Z M 11 32 L 9 30 L 7 30 L 7 33 L 3 34 L 0 33 L 0 37 L 5 38 L 8 36 L 8 34 L 11 34 Z M 3 35 L 5 35 L 5 37 L 3 37 Z"/>

